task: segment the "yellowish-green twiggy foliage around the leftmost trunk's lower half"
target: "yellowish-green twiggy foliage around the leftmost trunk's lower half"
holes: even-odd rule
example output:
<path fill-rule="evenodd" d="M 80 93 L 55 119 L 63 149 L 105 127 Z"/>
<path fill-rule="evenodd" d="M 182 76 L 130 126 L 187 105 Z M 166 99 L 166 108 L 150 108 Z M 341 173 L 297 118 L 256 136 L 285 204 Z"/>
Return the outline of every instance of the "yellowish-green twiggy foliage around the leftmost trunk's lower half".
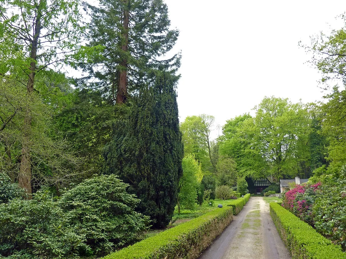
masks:
<path fill-rule="evenodd" d="M 52 107 L 13 81 L 0 80 L 0 167 L 17 179 L 22 143 L 30 143 L 32 178 L 36 184 L 66 184 L 76 178 L 80 159 L 70 144 L 52 135 Z M 24 118 L 31 117 L 31 126 Z"/>

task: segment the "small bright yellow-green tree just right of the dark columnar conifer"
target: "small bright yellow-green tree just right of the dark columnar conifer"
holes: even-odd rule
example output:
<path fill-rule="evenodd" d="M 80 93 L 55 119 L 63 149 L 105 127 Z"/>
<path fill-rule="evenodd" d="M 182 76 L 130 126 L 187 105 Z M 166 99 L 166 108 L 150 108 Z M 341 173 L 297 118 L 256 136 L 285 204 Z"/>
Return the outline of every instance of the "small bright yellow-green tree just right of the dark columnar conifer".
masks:
<path fill-rule="evenodd" d="M 193 208 L 197 198 L 197 189 L 201 180 L 201 165 L 192 155 L 185 156 L 182 160 L 183 176 L 179 180 L 178 208 Z"/>

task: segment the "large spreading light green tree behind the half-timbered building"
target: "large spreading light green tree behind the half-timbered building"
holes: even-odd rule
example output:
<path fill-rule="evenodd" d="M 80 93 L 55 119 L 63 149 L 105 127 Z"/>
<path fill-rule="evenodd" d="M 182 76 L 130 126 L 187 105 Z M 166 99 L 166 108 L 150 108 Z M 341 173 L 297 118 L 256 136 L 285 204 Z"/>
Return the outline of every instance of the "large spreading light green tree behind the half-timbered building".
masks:
<path fill-rule="evenodd" d="M 254 118 L 244 114 L 227 121 L 220 154 L 235 157 L 240 175 L 256 179 L 307 170 L 309 115 L 303 105 L 265 97 L 255 109 Z"/>

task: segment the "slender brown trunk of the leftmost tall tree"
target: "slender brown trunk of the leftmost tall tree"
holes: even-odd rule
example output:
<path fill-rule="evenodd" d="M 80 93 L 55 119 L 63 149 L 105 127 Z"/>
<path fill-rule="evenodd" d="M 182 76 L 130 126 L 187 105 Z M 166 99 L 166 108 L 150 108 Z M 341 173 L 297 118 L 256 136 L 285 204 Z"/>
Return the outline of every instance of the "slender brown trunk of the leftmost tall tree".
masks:
<path fill-rule="evenodd" d="M 38 4 L 38 8 L 40 6 L 40 3 Z M 34 92 L 34 83 L 35 83 L 35 70 L 36 70 L 36 60 L 37 60 L 37 45 L 38 45 L 38 38 L 40 35 L 41 30 L 41 15 L 40 11 L 38 11 L 36 16 L 36 22 L 35 22 L 35 31 L 34 31 L 34 37 L 31 41 L 31 51 L 30 51 L 30 74 L 28 79 L 28 85 L 27 85 L 27 93 L 28 97 L 33 94 Z M 28 109 L 24 118 L 24 131 L 29 132 L 31 128 L 31 122 L 32 118 L 30 115 L 30 110 Z M 21 149 L 21 161 L 20 161 L 20 167 L 19 167 L 19 176 L 18 176 L 18 184 L 21 188 L 24 188 L 26 192 L 29 194 L 29 199 L 31 199 L 31 156 L 29 152 L 29 136 L 28 134 L 25 134 L 26 140 L 22 143 L 22 149 Z"/>

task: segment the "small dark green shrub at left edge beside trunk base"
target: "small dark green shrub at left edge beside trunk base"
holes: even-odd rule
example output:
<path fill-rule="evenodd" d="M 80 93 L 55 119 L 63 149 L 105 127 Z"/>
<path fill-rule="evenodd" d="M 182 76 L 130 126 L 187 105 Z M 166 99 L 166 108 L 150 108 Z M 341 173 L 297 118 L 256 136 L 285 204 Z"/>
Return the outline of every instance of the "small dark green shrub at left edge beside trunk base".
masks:
<path fill-rule="evenodd" d="M 14 198 L 21 198 L 25 195 L 25 190 L 17 183 L 11 183 L 10 177 L 0 171 L 0 203 L 6 203 Z"/>

